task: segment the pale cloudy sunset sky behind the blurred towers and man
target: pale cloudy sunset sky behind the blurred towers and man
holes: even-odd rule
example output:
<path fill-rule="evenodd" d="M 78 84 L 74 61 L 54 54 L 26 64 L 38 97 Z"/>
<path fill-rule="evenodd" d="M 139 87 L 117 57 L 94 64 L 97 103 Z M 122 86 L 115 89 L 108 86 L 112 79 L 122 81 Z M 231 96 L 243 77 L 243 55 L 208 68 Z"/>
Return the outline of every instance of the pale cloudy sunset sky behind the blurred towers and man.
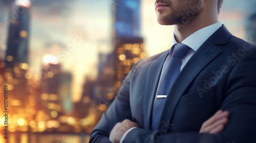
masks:
<path fill-rule="evenodd" d="M 14 2 L 14 1 L 13 1 Z M 65 71 L 71 72 L 73 101 L 80 100 L 85 77 L 97 77 L 98 53 L 112 52 L 113 9 L 115 3 L 123 1 L 31 1 L 31 27 L 29 46 L 29 71 L 40 76 L 42 57 L 45 54 L 59 56 Z M 169 48 L 173 37 L 173 26 L 157 23 L 154 10 L 155 1 L 141 1 L 141 32 L 148 56 Z M 11 1 L 2 0 L 0 26 L 0 59 L 4 60 L 3 45 L 6 44 L 6 17 Z M 256 2 L 252 0 L 224 1 L 220 21 L 231 33 L 249 41 L 245 37 L 244 18 L 253 12 Z M 151 21 L 151 22 L 148 22 Z M 80 44 L 73 49 L 68 46 L 80 37 Z M 81 54 L 83 53 L 83 54 Z M 39 64 L 40 63 L 40 64 Z M 81 78 L 83 77 L 83 78 Z"/>

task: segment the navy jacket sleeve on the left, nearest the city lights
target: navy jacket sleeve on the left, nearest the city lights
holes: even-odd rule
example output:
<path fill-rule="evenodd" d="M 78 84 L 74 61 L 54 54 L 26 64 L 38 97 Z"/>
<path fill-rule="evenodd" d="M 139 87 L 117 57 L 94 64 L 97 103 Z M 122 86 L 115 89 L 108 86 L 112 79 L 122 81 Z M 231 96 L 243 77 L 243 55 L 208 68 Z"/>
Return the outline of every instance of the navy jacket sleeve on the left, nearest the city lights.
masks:
<path fill-rule="evenodd" d="M 92 131 L 90 143 L 111 142 L 109 135 L 115 124 L 125 119 L 132 120 L 130 108 L 130 77 L 136 65 L 137 64 L 134 65 L 131 72 L 125 77 L 118 95 L 115 97 L 106 113 L 103 113 L 99 123 Z"/>

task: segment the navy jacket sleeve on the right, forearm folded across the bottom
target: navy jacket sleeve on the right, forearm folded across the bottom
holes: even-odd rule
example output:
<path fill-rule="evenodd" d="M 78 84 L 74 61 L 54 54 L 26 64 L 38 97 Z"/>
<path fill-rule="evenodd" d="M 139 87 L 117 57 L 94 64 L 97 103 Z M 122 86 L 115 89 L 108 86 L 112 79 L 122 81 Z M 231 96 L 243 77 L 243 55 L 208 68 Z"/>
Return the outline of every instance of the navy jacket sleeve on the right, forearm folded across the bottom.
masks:
<path fill-rule="evenodd" d="M 162 133 L 145 129 L 133 129 L 126 142 L 256 142 L 256 49 L 252 49 L 234 65 L 227 83 L 225 100 L 221 109 L 230 113 L 229 122 L 219 134 L 199 134 L 197 132 Z"/>

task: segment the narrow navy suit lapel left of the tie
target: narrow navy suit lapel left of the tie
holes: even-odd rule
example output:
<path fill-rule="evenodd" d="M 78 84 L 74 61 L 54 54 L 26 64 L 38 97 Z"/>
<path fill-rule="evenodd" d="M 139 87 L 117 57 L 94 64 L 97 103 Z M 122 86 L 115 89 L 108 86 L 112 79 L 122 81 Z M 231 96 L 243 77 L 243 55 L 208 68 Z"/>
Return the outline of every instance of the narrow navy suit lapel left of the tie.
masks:
<path fill-rule="evenodd" d="M 159 56 L 158 59 L 153 61 L 147 71 L 146 89 L 144 95 L 144 127 L 145 129 L 151 129 L 152 122 L 152 109 L 154 99 L 157 91 L 157 85 L 160 79 L 163 63 L 169 53 L 169 50 Z"/>

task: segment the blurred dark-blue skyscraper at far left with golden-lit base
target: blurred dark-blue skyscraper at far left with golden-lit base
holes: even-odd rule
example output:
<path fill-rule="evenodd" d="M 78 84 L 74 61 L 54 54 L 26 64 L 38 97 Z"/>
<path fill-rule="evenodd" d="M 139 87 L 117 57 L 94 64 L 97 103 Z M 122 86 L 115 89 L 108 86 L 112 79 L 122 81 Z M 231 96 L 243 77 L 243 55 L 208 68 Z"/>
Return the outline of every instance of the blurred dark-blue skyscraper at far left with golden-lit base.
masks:
<path fill-rule="evenodd" d="M 28 1 L 29 2 L 29 1 Z M 4 85 L 10 91 L 8 98 L 8 110 L 10 118 L 10 130 L 28 131 L 28 124 L 35 115 L 35 102 L 27 87 L 28 76 L 26 76 L 28 65 L 28 33 L 29 33 L 29 3 L 15 3 L 12 5 L 8 21 L 7 50 L 4 68 L 1 76 Z"/>

